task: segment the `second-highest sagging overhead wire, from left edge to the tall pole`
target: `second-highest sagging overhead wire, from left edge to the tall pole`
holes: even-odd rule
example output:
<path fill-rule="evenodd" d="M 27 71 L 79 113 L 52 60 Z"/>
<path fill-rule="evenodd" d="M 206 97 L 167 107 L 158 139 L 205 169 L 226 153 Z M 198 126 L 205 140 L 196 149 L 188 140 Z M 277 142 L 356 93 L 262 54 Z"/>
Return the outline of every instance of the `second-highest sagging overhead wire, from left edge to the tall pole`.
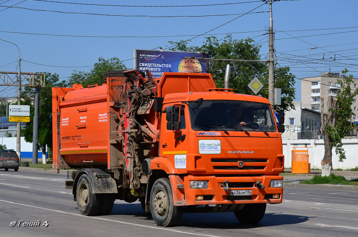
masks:
<path fill-rule="evenodd" d="M 26 0 L 24 0 L 26 1 Z M 21 2 L 22 3 L 22 2 Z M 265 4 L 265 3 L 264 3 Z M 15 4 L 16 5 L 16 4 Z M 19 6 L 1 6 L 3 8 L 17 8 L 22 10 L 31 10 L 31 11 L 49 11 L 53 13 L 63 13 L 63 14 L 83 14 L 83 15 L 96 15 L 96 16 L 122 16 L 122 17 L 153 17 L 153 18 L 176 18 L 176 17 L 208 17 L 208 16 L 234 16 L 234 15 L 246 15 L 246 14 L 256 14 L 256 13 L 266 13 L 267 11 L 261 11 L 256 13 L 236 13 L 236 14 L 220 14 L 220 15 L 202 15 L 202 16 L 151 16 L 151 15 L 111 15 L 111 14 L 99 14 L 99 13 L 81 13 L 81 12 L 69 12 L 69 11 L 54 11 L 54 10 L 43 10 L 43 9 L 31 9 L 23 8 Z M 5 10 L 5 9 L 4 9 Z"/>

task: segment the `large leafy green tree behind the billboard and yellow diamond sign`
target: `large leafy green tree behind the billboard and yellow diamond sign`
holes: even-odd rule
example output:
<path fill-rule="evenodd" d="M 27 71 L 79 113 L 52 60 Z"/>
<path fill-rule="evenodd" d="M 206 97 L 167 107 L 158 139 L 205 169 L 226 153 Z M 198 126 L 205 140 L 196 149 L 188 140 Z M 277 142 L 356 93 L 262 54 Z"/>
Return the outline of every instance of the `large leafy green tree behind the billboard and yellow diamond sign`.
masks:
<path fill-rule="evenodd" d="M 206 41 L 202 46 L 188 46 L 188 41 L 180 40 L 178 42 L 169 41 L 174 44 L 170 50 L 179 51 L 200 51 L 209 54 L 209 58 L 216 59 L 245 59 L 260 60 L 261 45 L 253 44 L 254 40 L 250 38 L 237 40 L 231 35 L 226 35 L 223 39 L 217 39 L 215 36 L 205 37 Z M 224 87 L 225 67 L 231 66 L 230 88 L 235 93 L 249 94 L 254 93 L 248 88 L 248 84 L 256 76 L 262 83 L 268 83 L 268 66 L 260 62 L 228 62 L 228 61 L 211 61 L 209 72 L 212 74 L 216 86 Z M 292 101 L 295 99 L 295 76 L 289 73 L 289 67 L 279 67 L 276 64 L 275 69 L 275 87 L 281 88 L 281 106 L 276 109 L 288 110 L 294 109 Z M 267 85 L 267 84 L 265 84 Z M 267 86 L 266 86 L 267 87 Z M 268 98 L 268 90 L 262 89 L 260 94 Z"/>

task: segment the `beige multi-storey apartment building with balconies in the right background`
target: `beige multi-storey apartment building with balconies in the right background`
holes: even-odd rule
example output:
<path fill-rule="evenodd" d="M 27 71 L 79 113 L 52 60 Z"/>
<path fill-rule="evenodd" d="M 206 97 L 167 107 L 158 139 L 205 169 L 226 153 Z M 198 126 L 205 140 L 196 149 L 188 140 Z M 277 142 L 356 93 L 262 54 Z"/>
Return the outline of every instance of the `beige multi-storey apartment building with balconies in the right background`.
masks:
<path fill-rule="evenodd" d="M 320 112 L 320 98 L 324 98 L 323 112 L 327 112 L 327 98 L 329 95 L 337 98 L 337 92 L 340 85 L 337 83 L 338 78 L 343 75 L 339 73 L 321 73 L 320 76 L 308 77 L 301 80 L 301 102 L 302 107 L 309 108 Z M 356 89 L 358 79 L 353 79 L 354 83 L 350 85 L 351 89 Z M 352 110 L 352 122 L 358 118 L 358 96 L 354 98 Z"/>

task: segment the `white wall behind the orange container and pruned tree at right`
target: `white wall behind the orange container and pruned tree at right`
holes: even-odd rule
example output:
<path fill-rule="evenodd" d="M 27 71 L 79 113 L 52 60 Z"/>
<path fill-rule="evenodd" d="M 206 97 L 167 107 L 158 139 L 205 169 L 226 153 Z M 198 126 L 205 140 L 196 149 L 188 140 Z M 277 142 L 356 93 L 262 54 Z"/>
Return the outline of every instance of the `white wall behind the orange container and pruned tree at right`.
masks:
<path fill-rule="evenodd" d="M 350 169 L 358 166 L 358 139 L 343 139 L 343 149 L 345 150 L 345 156 L 347 159 L 343 162 L 339 162 L 339 157 L 335 153 L 335 148 L 332 149 L 332 165 L 333 169 Z M 323 139 L 282 139 L 283 153 L 285 155 L 285 168 L 291 167 L 291 153 L 293 147 L 309 147 L 309 163 L 311 168 L 321 168 L 321 161 L 324 155 L 324 142 Z"/>

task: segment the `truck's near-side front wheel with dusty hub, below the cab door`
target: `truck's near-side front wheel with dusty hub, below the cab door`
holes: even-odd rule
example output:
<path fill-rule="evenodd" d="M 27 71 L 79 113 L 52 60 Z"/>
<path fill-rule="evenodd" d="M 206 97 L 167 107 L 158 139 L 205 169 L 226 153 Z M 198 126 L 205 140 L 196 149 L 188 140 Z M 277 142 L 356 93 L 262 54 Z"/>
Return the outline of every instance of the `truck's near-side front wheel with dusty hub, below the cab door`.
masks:
<path fill-rule="evenodd" d="M 150 209 L 158 226 L 169 227 L 180 222 L 183 207 L 174 206 L 173 191 L 168 178 L 155 181 L 150 194 Z"/>

